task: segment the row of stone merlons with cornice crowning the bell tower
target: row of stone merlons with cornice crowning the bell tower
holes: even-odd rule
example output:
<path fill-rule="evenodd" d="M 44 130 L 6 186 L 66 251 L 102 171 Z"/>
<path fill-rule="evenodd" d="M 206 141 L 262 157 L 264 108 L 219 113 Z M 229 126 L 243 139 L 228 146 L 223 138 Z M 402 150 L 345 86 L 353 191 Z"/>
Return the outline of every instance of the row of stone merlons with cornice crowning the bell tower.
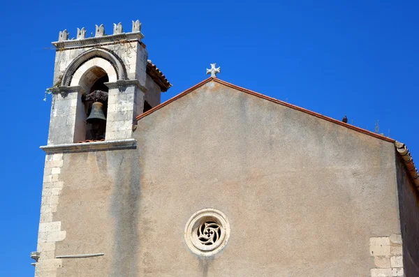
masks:
<path fill-rule="evenodd" d="M 105 27 L 103 24 L 99 26 L 96 25 L 94 36 L 93 32 L 91 32 L 91 36 L 86 38 L 86 33 L 87 31 L 84 27 L 82 29 L 78 28 L 76 37 L 68 39 L 70 33 L 68 33 L 67 29 L 65 29 L 64 31 L 59 32 L 58 41 L 53 42 L 52 45 L 54 45 L 57 49 L 64 49 L 73 47 L 89 47 L 98 44 L 120 43 L 121 40 L 127 40 L 129 42 L 138 40 L 138 42 L 141 42 L 142 38 L 144 38 L 144 35 L 141 33 L 140 20 L 133 21 L 132 31 L 128 33 L 124 33 L 121 22 L 113 24 L 112 35 L 105 33 Z"/>

